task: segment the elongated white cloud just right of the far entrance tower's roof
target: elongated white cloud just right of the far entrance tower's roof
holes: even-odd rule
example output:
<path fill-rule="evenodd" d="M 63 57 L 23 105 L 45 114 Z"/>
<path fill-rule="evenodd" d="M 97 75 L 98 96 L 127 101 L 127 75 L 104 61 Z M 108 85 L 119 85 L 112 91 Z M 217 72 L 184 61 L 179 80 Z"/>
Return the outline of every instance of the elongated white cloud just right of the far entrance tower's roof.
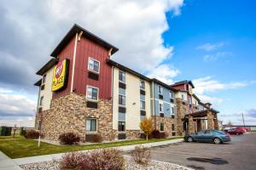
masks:
<path fill-rule="evenodd" d="M 193 80 L 195 84 L 195 93 L 204 94 L 224 89 L 243 88 L 247 86 L 246 82 L 229 82 L 223 83 L 213 80 L 212 77 L 202 77 Z"/>

